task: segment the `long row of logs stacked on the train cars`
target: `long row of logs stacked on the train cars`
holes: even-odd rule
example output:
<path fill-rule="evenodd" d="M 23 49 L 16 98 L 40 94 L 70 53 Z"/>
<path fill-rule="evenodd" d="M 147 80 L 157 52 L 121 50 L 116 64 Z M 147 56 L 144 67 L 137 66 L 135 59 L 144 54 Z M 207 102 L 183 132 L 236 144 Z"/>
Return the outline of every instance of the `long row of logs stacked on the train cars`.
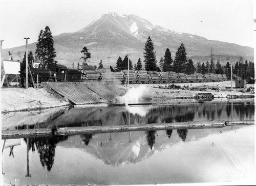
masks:
<path fill-rule="evenodd" d="M 81 79 L 105 81 L 120 81 L 127 83 L 128 70 L 111 72 L 110 69 L 84 70 L 81 71 Z M 185 74 L 176 72 L 156 72 L 146 70 L 129 70 L 130 84 L 152 84 L 152 83 L 196 83 L 196 82 L 220 82 L 227 81 L 225 74 Z"/>

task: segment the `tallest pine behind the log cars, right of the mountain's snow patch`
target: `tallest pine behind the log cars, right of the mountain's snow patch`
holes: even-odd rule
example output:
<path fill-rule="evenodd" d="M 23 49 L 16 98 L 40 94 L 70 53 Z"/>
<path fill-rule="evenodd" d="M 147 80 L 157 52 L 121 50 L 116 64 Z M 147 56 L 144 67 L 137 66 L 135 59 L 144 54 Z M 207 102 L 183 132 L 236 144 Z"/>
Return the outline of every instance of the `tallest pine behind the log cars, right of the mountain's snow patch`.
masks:
<path fill-rule="evenodd" d="M 154 43 L 152 42 L 150 36 L 145 43 L 144 47 L 145 52 L 144 54 L 144 62 L 145 62 L 145 70 L 153 70 L 156 71 L 156 52 L 154 51 Z"/>

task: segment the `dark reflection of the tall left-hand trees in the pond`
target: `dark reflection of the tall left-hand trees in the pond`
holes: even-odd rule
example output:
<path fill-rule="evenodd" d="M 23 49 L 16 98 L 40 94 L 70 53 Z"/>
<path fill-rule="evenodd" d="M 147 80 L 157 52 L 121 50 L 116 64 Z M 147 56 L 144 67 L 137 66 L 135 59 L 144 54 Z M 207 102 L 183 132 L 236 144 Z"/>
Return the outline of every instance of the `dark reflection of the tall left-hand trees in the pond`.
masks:
<path fill-rule="evenodd" d="M 35 151 L 36 146 L 42 167 L 46 166 L 47 170 L 51 171 L 54 163 L 56 144 L 59 141 L 67 139 L 68 136 L 32 138 L 29 140 L 29 150 L 32 149 L 32 151 Z M 27 143 L 26 138 L 24 139 L 24 141 Z"/>

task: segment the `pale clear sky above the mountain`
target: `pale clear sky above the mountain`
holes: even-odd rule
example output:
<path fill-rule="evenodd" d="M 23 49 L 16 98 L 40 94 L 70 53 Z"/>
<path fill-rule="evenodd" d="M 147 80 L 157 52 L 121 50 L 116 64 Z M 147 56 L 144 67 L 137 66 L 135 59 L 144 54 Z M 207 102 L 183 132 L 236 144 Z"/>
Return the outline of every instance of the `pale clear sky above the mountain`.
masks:
<path fill-rule="evenodd" d="M 76 32 L 101 15 L 135 14 L 163 28 L 253 47 L 253 0 L 0 0 L 3 48 L 36 42 L 46 26 L 52 35 Z"/>

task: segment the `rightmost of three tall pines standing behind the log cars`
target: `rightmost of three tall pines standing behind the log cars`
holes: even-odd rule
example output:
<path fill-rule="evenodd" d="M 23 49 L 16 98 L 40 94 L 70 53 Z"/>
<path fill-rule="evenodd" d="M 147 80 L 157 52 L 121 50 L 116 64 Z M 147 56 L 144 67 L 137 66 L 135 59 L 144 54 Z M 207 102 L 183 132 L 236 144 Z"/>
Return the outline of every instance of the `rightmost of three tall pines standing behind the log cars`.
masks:
<path fill-rule="evenodd" d="M 176 72 L 178 73 L 185 73 L 186 70 L 186 62 L 187 62 L 187 57 L 186 57 L 187 53 L 186 53 L 186 49 L 183 45 L 183 43 L 181 43 L 181 45 L 179 46 L 179 48 L 176 51 L 176 56 L 175 56 L 175 60 L 174 60 L 174 68 L 176 68 Z"/>

